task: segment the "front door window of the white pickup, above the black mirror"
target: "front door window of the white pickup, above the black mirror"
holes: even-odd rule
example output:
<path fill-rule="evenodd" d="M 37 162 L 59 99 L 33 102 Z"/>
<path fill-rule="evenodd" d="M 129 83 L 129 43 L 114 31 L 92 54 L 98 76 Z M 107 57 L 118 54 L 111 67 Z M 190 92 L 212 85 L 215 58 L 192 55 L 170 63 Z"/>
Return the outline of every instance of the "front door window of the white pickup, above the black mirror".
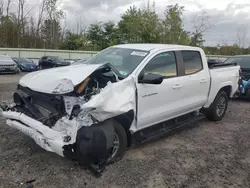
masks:
<path fill-rule="evenodd" d="M 174 52 L 164 52 L 158 54 L 151 59 L 146 67 L 144 73 L 159 74 L 164 77 L 177 76 L 177 63 Z"/>

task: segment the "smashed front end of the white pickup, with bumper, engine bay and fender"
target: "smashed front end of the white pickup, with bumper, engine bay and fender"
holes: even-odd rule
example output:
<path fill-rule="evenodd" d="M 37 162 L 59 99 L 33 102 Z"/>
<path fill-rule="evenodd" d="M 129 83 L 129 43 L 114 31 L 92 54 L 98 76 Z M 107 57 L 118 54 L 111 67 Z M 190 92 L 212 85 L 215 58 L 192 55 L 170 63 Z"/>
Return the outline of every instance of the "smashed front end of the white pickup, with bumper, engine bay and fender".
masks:
<path fill-rule="evenodd" d="M 108 65 L 89 72 L 79 83 L 57 75 L 44 88 L 27 84 L 24 77 L 14 93 L 14 104 L 0 107 L 7 124 L 47 151 L 82 164 L 105 163 L 113 148 L 113 118 L 134 111 L 135 85 L 132 78 L 120 78 Z"/>

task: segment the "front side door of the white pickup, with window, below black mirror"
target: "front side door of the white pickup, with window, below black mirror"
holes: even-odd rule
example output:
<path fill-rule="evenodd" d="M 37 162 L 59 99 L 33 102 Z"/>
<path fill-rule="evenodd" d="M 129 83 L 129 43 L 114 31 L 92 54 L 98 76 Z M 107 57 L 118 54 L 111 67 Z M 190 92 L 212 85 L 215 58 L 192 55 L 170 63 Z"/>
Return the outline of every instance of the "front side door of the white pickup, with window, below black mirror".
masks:
<path fill-rule="evenodd" d="M 158 74 L 164 76 L 164 80 L 159 85 L 137 82 L 138 129 L 172 118 L 183 106 L 177 64 L 175 52 L 163 52 L 153 57 L 143 68 L 142 75 Z"/>

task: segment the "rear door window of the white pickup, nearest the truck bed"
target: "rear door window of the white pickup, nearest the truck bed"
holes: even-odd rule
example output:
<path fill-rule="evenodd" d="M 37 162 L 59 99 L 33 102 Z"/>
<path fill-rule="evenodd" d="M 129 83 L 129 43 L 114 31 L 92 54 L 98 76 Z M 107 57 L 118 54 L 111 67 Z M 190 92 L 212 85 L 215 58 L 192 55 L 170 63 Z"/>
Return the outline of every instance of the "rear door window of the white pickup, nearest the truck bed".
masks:
<path fill-rule="evenodd" d="M 194 74 L 203 69 L 200 52 L 182 51 L 185 75 Z"/>

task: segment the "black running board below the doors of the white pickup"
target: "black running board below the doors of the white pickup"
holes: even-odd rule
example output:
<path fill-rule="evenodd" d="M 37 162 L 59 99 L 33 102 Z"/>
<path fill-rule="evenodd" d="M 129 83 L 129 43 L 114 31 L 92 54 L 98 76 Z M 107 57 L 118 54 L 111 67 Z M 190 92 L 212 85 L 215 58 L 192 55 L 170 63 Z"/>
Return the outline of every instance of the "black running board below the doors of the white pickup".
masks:
<path fill-rule="evenodd" d="M 192 113 L 143 129 L 132 135 L 133 144 L 141 144 L 152 141 L 204 118 L 205 116 L 203 114 L 194 115 L 194 113 Z"/>

